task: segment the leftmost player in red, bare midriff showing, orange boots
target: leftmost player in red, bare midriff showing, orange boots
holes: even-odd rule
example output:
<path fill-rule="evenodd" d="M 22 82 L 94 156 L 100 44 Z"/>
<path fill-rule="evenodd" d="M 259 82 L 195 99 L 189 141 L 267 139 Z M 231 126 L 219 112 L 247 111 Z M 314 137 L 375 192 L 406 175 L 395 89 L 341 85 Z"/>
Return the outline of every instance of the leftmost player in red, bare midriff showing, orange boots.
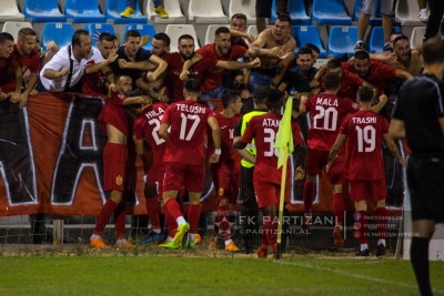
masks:
<path fill-rule="evenodd" d="M 90 238 L 92 247 L 107 247 L 101 234 L 111 215 L 114 215 L 118 247 L 132 247 L 124 238 L 127 205 L 122 202 L 122 195 L 127 187 L 127 142 L 130 134 L 130 122 L 123 106 L 130 104 L 147 104 L 150 103 L 151 100 L 147 95 L 127 96 L 132 90 L 130 76 L 122 75 L 115 78 L 115 85 L 118 91 L 111 91 L 111 96 L 99 116 L 99 121 L 102 122 L 103 130 L 108 134 L 108 142 L 103 150 L 103 180 L 104 190 L 111 191 L 111 195 L 100 211 L 99 220 Z"/>

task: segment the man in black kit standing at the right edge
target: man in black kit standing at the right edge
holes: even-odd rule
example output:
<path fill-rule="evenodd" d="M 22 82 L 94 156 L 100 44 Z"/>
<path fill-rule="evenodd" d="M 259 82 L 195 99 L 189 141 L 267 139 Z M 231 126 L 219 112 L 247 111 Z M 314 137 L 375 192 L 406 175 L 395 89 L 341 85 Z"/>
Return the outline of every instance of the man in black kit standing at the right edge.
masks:
<path fill-rule="evenodd" d="M 444 222 L 444 40 L 427 40 L 422 58 L 423 74 L 400 90 L 390 133 L 406 137 L 412 150 L 407 162 L 414 234 L 410 256 L 421 295 L 432 295 L 428 244 L 435 223 Z"/>

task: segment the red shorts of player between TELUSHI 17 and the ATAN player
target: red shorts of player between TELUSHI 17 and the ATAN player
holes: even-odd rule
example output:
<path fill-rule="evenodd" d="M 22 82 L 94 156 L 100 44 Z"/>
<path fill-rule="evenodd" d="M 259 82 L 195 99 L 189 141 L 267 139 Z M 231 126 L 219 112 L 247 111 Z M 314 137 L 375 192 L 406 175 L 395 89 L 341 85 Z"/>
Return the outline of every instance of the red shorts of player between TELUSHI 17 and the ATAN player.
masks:
<path fill-rule="evenodd" d="M 228 198 L 230 204 L 235 204 L 241 185 L 240 172 L 228 172 L 225 170 L 211 170 L 218 203 Z"/>

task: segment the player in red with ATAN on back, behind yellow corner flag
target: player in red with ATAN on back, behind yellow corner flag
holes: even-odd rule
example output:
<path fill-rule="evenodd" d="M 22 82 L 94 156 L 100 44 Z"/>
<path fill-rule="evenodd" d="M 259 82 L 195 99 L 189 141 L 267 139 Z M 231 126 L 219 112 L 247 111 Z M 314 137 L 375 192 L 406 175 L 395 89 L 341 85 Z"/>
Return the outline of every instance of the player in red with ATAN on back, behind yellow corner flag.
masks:
<path fill-rule="evenodd" d="M 269 110 L 263 115 L 253 116 L 242 135 L 242 139 L 233 144 L 233 149 L 245 149 L 248 143 L 254 139 L 256 146 L 256 156 L 251 155 L 254 166 L 254 191 L 256 193 L 259 208 L 263 211 L 264 225 L 262 233 L 262 245 L 258 249 L 258 257 L 265 258 L 269 246 L 275 254 L 276 233 L 278 233 L 278 203 L 281 191 L 282 167 L 278 169 L 278 151 L 274 149 L 274 142 L 279 125 L 281 124 L 283 105 L 283 93 L 276 89 L 271 89 L 265 99 Z M 296 169 L 295 176 L 301 180 L 305 175 L 305 152 L 306 146 L 297 122 L 292 121 L 293 143 L 300 149 L 300 155 L 303 155 L 303 165 Z M 287 166 L 287 178 L 290 177 L 290 165 Z M 290 180 L 286 182 L 285 195 L 290 195 Z"/>

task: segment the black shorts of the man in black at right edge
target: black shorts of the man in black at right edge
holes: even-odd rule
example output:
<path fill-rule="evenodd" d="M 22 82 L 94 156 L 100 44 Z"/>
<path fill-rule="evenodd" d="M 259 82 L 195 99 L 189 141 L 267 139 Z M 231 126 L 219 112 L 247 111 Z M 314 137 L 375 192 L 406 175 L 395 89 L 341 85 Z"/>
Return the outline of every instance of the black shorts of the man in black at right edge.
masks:
<path fill-rule="evenodd" d="M 412 155 L 407 161 L 412 220 L 444 222 L 444 156 Z"/>

